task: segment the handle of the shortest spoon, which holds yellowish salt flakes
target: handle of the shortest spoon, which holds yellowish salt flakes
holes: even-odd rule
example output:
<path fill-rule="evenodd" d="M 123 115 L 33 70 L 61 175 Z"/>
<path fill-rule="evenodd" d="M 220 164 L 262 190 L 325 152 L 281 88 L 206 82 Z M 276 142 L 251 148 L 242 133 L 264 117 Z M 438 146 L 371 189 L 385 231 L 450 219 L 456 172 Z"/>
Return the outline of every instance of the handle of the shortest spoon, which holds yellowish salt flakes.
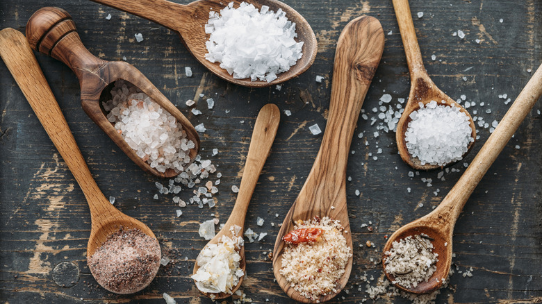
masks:
<path fill-rule="evenodd" d="M 252 138 L 250 139 L 247 162 L 245 162 L 245 169 L 243 169 L 236 204 L 231 210 L 226 227 L 233 224 L 240 227 L 244 226 L 250 199 L 254 193 L 254 188 L 256 188 L 256 183 L 258 183 L 263 164 L 265 164 L 265 160 L 267 160 L 270 153 L 274 137 L 277 135 L 280 117 L 279 108 L 272 103 L 264 105 L 258 113 L 252 131 Z"/>

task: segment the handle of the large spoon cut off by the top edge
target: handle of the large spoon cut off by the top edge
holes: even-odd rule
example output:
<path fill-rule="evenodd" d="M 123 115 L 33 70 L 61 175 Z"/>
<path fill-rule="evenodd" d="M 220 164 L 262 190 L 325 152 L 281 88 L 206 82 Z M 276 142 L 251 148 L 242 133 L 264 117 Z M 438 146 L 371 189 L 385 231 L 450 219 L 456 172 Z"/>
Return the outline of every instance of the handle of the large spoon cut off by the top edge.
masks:
<path fill-rule="evenodd" d="M 166 0 L 91 0 L 179 31 L 186 6 Z M 227 1 L 224 1 L 227 3 Z"/>

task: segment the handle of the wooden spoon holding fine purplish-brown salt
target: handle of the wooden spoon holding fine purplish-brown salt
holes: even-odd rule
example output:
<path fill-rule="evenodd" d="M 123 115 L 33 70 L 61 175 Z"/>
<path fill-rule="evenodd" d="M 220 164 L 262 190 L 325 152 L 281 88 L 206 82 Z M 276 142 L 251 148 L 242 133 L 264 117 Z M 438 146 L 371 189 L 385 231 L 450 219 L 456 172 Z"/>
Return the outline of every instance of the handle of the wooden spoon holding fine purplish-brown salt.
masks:
<path fill-rule="evenodd" d="M 92 214 L 116 210 L 101 193 L 24 35 L 0 31 L 0 56 L 85 194 Z"/>

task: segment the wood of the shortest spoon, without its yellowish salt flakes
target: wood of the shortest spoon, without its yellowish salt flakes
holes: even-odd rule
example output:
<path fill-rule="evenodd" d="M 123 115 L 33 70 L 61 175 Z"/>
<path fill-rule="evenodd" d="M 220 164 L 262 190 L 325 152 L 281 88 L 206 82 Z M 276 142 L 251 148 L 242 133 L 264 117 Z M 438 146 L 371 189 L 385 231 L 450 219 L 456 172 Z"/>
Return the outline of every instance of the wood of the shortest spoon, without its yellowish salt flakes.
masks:
<path fill-rule="evenodd" d="M 252 131 L 252 138 L 250 140 L 249 152 L 247 155 L 247 162 L 245 163 L 245 169 L 243 170 L 243 178 L 241 178 L 241 185 L 239 187 L 239 193 L 237 194 L 236 204 L 231 210 L 231 214 L 228 218 L 228 221 L 224 224 L 224 228 L 220 230 L 211 241 L 207 244 L 217 244 L 222 239 L 222 236 L 232 237 L 231 231 L 229 230 L 231 226 L 237 225 L 240 227 L 239 234 L 237 237 L 243 236 L 243 231 L 245 230 L 245 216 L 247 215 L 247 209 L 254 193 L 254 188 L 258 182 L 258 177 L 261 174 L 263 169 L 263 164 L 268 158 L 270 153 L 271 146 L 274 141 L 275 135 L 277 135 L 277 130 L 279 128 L 280 121 L 280 111 L 277 108 L 277 105 L 268 103 L 261 108 L 258 117 L 256 118 L 256 124 L 254 124 L 254 130 Z M 241 260 L 239 262 L 239 267 L 243 269 L 243 272 L 246 272 L 246 263 L 245 263 L 245 246 L 240 246 L 239 255 Z M 194 264 L 195 274 L 199 269 L 197 262 Z M 233 288 L 231 294 L 237 291 L 243 282 L 243 277 L 239 279 L 236 287 Z M 227 298 L 231 294 L 226 294 L 221 292 L 219 294 L 208 294 L 202 292 L 205 296 L 219 300 L 222 298 Z"/>

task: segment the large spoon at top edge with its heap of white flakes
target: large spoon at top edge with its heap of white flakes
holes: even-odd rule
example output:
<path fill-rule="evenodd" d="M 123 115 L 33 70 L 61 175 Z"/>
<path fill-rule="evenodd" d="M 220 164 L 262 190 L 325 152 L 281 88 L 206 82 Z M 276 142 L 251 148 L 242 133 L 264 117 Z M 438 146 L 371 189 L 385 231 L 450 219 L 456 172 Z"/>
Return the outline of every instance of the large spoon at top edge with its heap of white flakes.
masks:
<path fill-rule="evenodd" d="M 188 51 L 213 74 L 246 87 L 268 87 L 299 76 L 311 67 L 318 51 L 306 19 L 277 0 L 198 0 L 186 5 L 166 0 L 92 1 L 179 33 Z M 213 24 L 221 10 L 229 12 Z"/>

